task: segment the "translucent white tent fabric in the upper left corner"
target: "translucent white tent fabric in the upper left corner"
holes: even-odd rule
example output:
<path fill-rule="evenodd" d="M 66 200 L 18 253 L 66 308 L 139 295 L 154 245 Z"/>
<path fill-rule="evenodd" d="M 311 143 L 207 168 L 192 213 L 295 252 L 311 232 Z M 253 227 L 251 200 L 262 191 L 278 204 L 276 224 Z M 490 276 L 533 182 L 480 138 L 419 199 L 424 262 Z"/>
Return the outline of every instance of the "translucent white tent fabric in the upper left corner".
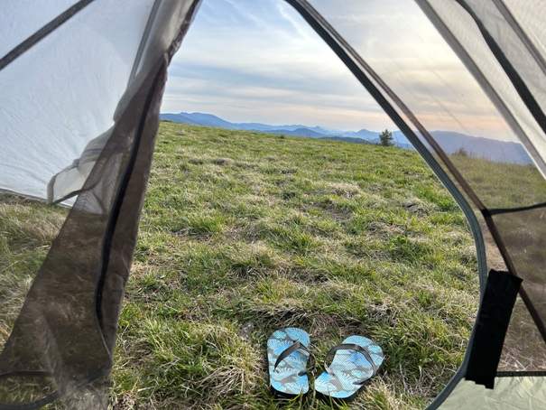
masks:
<path fill-rule="evenodd" d="M 113 126 L 127 87 L 171 45 L 190 4 L 94 0 L 6 66 L 0 76 L 0 190 L 45 199 L 51 178 Z M 73 5 L 78 2 L 9 2 L 0 14 L 0 55 Z M 88 173 L 84 162 L 64 174 L 67 186 L 51 200 L 79 191 Z"/>

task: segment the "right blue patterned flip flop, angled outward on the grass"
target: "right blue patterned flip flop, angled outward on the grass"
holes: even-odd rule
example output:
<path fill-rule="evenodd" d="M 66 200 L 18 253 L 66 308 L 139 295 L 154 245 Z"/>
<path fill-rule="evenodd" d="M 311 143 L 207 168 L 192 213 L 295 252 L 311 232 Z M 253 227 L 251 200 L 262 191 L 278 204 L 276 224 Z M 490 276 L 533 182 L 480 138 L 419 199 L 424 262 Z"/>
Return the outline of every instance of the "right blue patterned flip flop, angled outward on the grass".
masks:
<path fill-rule="evenodd" d="M 332 353 L 336 354 L 328 366 L 326 360 Z M 352 400 L 366 381 L 377 374 L 383 359 L 383 350 L 372 340 L 349 336 L 326 354 L 326 371 L 315 380 L 315 390 L 322 396 Z"/>

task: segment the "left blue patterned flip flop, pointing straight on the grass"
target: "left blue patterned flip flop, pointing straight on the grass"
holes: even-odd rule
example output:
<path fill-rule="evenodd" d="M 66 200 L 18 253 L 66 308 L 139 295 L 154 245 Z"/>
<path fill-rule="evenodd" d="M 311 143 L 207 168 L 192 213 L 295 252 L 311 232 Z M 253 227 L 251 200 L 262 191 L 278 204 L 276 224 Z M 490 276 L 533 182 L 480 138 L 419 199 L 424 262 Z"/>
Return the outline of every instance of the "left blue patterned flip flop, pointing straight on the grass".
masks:
<path fill-rule="evenodd" d="M 286 396 L 305 395 L 309 391 L 307 360 L 310 338 L 306 331 L 286 328 L 273 331 L 267 340 L 269 386 Z"/>

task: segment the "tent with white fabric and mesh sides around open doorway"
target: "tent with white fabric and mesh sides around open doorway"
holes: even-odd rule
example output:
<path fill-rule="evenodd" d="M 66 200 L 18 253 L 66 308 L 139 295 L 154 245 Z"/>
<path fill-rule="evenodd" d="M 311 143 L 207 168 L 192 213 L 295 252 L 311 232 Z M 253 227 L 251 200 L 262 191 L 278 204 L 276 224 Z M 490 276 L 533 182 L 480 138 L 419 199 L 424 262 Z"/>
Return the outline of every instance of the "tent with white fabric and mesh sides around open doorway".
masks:
<path fill-rule="evenodd" d="M 543 407 L 546 5 L 415 0 L 481 86 L 480 104 L 504 118 L 540 177 L 510 186 L 493 175 L 477 178 L 447 154 L 449 139 L 431 135 L 428 111 L 406 87 L 396 55 L 368 55 L 382 48 L 354 38 L 342 17 L 366 14 L 364 2 L 286 1 L 410 139 L 472 228 L 480 309 L 462 366 L 430 408 Z M 0 190 L 71 209 L 0 355 L 7 391 L 2 409 L 38 408 L 80 387 L 94 392 L 91 398 L 82 393 L 82 408 L 106 406 L 166 71 L 199 3 L 63 0 L 38 8 L 24 0 L 3 6 Z M 399 34 L 403 46 L 422 41 L 426 49 L 426 39 Z M 452 99 L 429 94 L 427 102 L 457 116 L 450 104 L 474 98 L 463 91 Z M 464 115 L 456 122 L 464 125 Z M 511 162 L 510 153 L 504 162 Z M 531 347 L 521 349 L 523 339 L 532 340 Z M 506 351 L 517 357 L 512 364 L 503 360 Z"/>

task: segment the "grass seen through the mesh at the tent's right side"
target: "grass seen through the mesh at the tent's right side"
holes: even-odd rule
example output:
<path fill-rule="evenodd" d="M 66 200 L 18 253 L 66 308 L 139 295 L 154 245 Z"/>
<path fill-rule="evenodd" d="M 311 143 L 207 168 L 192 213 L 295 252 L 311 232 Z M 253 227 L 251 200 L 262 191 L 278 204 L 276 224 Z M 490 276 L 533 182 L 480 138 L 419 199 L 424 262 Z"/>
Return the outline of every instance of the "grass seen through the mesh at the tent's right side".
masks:
<path fill-rule="evenodd" d="M 546 181 L 531 165 L 493 163 L 480 158 L 453 156 L 469 185 L 479 192 L 490 208 L 527 207 L 544 202 Z M 543 293 L 544 248 L 541 219 L 543 209 L 506 213 L 494 217 L 495 226 L 503 237 L 504 246 L 512 258 L 517 274 L 523 278 L 525 292 L 531 297 L 541 317 L 546 316 Z M 486 231 L 486 229 L 484 229 Z M 487 238 L 493 242 L 492 238 Z M 488 265 L 506 270 L 497 251 L 488 249 Z M 546 368 L 543 341 L 523 301 L 518 298 L 510 328 L 504 339 L 499 370 L 541 370 Z"/>

